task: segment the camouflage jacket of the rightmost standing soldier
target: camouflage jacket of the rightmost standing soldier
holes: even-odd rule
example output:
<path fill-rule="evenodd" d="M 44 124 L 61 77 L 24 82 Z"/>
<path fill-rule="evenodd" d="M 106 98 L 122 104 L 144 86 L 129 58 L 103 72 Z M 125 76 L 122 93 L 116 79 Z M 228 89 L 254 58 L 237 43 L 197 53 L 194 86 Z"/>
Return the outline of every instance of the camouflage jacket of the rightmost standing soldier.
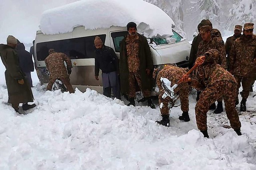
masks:
<path fill-rule="evenodd" d="M 236 76 L 247 76 L 255 67 L 256 35 L 248 40 L 244 35 L 236 39 L 230 50 L 230 71 Z"/>

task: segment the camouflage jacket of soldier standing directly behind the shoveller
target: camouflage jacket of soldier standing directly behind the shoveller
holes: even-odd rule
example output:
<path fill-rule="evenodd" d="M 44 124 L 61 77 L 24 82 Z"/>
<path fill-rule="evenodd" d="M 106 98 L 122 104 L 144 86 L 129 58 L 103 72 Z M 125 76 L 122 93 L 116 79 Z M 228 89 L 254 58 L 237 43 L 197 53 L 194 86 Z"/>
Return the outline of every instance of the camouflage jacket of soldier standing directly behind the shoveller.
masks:
<path fill-rule="evenodd" d="M 211 49 L 216 49 L 220 53 L 219 61 L 217 62 L 220 64 L 224 69 L 226 69 L 226 52 L 225 52 L 225 45 L 224 41 L 220 37 L 211 37 L 210 41 L 201 41 L 198 45 L 198 52 L 197 57 L 204 55 L 207 51 Z"/>

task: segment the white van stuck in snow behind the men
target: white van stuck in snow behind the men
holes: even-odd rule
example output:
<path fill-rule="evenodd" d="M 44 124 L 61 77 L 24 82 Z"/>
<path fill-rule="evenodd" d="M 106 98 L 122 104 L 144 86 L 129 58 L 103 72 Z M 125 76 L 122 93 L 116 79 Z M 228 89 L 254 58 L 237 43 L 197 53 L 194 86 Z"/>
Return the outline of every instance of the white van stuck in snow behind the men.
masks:
<path fill-rule="evenodd" d="M 99 36 L 106 46 L 114 49 L 119 57 L 119 43 L 127 33 L 126 27 L 114 26 L 109 29 L 93 30 L 86 30 L 81 26 L 75 27 L 72 32 L 55 35 L 46 35 L 40 30 L 37 31 L 34 52 L 40 82 L 47 83 L 49 80 L 44 59 L 48 56 L 49 49 L 55 49 L 57 52 L 65 53 L 72 61 L 70 82 L 73 88 L 81 91 L 90 88 L 102 93 L 101 76 L 99 76 L 99 81 L 94 78 L 94 38 Z M 148 39 L 154 66 L 169 63 L 181 67 L 187 66 L 191 45 L 175 31 L 173 34 L 172 37 L 166 39 Z"/>

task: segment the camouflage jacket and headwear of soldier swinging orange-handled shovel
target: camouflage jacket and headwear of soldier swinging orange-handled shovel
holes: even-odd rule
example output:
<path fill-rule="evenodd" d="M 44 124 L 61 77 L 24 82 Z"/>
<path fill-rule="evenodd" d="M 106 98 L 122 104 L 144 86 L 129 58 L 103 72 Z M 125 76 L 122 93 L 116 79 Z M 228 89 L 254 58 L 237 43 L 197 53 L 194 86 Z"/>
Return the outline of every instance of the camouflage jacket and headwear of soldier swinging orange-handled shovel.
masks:
<path fill-rule="evenodd" d="M 215 49 L 206 52 L 204 56 L 206 56 L 204 63 L 192 72 L 192 87 L 204 90 L 204 88 L 214 86 L 216 82 L 224 80 L 236 83 L 236 79 L 230 72 L 217 64 L 219 54 Z"/>

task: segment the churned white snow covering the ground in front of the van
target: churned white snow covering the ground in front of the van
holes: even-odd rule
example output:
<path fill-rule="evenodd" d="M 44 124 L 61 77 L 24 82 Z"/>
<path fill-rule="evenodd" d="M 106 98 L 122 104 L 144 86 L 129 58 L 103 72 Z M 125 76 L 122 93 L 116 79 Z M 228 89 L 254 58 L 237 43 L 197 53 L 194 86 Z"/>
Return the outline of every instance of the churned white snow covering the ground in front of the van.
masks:
<path fill-rule="evenodd" d="M 44 88 L 32 88 L 36 108 L 17 115 L 0 85 L 0 170 L 256 169 L 255 113 L 240 115 L 243 135 L 237 136 L 221 126 L 229 125 L 225 113 L 209 111 L 205 139 L 196 127 L 194 91 L 192 120 L 178 120 L 177 107 L 167 128 L 155 123 L 159 107 L 124 106 L 90 89 L 69 94 Z M 253 94 L 249 110 L 256 110 Z"/>

